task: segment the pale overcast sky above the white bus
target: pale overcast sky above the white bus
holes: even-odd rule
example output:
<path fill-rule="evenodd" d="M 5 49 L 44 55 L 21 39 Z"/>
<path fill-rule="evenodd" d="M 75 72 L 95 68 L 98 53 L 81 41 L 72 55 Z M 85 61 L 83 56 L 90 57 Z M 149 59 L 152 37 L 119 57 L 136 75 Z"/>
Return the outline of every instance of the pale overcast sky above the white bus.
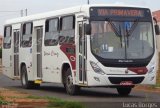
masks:
<path fill-rule="evenodd" d="M 90 4 L 138 5 L 160 10 L 160 0 L 90 0 Z M 0 0 L 0 34 L 3 35 L 5 20 L 21 16 L 20 10 L 28 10 L 28 15 L 87 4 L 87 0 Z"/>

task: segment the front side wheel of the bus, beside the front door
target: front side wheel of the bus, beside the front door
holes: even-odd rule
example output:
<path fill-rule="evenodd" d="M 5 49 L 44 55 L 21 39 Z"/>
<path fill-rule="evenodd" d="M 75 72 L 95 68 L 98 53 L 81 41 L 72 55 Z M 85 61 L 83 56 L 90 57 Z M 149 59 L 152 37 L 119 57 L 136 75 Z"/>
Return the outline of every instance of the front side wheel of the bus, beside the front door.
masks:
<path fill-rule="evenodd" d="M 67 69 L 65 75 L 65 84 L 64 87 L 66 89 L 67 94 L 69 95 L 76 95 L 78 94 L 80 87 L 73 84 L 71 69 Z"/>

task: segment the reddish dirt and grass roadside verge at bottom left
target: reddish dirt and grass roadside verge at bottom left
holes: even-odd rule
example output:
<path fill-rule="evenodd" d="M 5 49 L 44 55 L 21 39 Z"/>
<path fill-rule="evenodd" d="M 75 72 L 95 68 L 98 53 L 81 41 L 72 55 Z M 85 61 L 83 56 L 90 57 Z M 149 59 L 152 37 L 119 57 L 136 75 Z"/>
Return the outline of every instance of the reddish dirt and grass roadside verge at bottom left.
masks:
<path fill-rule="evenodd" d="M 0 108 L 86 108 L 86 106 L 76 101 L 33 96 L 15 90 L 0 88 Z"/>

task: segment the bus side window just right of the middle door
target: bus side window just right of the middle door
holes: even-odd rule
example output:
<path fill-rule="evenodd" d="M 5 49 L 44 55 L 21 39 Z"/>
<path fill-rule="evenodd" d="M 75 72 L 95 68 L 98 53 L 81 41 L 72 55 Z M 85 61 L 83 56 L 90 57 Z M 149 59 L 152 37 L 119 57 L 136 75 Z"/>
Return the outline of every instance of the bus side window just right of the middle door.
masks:
<path fill-rule="evenodd" d="M 44 45 L 45 46 L 55 46 L 58 44 L 58 36 L 59 36 L 59 19 L 49 19 L 46 21 L 46 30 L 45 30 L 45 38 Z"/>

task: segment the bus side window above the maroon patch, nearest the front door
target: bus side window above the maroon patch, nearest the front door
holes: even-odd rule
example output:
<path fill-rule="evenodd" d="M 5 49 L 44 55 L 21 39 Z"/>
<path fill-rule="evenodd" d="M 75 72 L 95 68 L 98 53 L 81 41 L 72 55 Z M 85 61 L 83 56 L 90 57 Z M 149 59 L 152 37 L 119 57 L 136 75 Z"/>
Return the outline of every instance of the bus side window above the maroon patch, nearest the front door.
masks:
<path fill-rule="evenodd" d="M 65 16 L 61 18 L 59 43 L 75 43 L 75 16 Z"/>

